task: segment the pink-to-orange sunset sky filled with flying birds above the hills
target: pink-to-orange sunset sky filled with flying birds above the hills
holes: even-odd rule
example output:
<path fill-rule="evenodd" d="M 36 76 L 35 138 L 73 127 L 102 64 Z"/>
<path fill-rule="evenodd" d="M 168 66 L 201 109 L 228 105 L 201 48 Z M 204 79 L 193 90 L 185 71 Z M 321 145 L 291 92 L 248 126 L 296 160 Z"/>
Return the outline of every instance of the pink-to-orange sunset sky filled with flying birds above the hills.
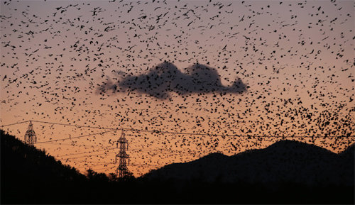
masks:
<path fill-rule="evenodd" d="M 355 139 L 354 25 L 354 1 L 1 0 L 0 122 L 42 121 L 35 146 L 81 172 L 115 172 L 121 131 L 50 123 L 138 130 L 136 177 L 280 136 L 339 153 Z"/>

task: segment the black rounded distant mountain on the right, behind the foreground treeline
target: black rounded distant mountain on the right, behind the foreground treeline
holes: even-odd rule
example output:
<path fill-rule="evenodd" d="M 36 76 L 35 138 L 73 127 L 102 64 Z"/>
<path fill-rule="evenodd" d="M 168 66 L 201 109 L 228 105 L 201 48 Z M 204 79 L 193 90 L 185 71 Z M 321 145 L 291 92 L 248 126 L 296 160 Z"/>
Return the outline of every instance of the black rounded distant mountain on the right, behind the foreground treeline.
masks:
<path fill-rule="evenodd" d="M 354 153 L 354 146 L 352 150 Z M 354 155 L 344 156 L 315 145 L 283 140 L 230 157 L 213 153 L 192 162 L 166 165 L 143 178 L 354 187 Z"/>

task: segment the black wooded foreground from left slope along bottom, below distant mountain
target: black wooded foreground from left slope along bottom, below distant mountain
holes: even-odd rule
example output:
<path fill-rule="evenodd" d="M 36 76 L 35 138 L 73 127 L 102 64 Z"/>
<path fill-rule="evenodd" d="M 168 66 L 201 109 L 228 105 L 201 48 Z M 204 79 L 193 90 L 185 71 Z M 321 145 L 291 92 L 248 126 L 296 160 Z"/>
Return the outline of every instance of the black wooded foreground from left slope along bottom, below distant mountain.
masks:
<path fill-rule="evenodd" d="M 206 180 L 208 176 L 201 174 L 152 177 L 163 172 L 159 170 L 125 179 L 93 170 L 80 174 L 45 150 L 23 144 L 2 130 L 0 135 L 1 204 L 354 204 L 354 183 L 228 182 L 221 175 Z M 354 164 L 354 146 L 344 153 Z M 174 165 L 160 170 L 169 166 Z"/>

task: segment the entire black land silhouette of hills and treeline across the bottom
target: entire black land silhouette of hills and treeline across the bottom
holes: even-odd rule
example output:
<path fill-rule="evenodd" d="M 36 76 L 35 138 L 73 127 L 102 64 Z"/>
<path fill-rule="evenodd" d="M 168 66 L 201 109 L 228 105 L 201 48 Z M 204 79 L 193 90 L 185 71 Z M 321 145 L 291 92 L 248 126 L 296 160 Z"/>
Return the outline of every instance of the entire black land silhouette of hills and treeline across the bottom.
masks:
<path fill-rule="evenodd" d="M 0 136 L 1 204 L 354 204 L 354 145 L 337 155 L 286 140 L 119 180 Z"/>

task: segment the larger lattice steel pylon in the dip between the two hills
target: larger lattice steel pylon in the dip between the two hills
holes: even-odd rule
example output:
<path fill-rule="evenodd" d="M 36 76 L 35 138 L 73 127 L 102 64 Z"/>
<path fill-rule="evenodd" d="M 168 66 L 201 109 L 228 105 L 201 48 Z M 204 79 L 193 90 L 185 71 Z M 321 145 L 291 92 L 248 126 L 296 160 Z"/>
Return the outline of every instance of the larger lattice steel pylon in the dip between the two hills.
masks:
<path fill-rule="evenodd" d="M 116 143 L 117 147 L 119 145 L 119 153 L 116 155 L 115 163 L 117 162 L 117 157 L 119 157 L 119 167 L 116 169 L 116 174 L 119 176 L 119 178 L 124 178 L 128 172 L 129 169 L 127 168 L 127 163 L 126 159 L 129 159 L 129 155 L 126 153 L 126 149 L 129 149 L 129 142 L 124 136 L 124 130 L 122 129 L 121 132 L 121 137 L 119 140 L 117 140 Z M 128 162 L 129 165 L 129 162 Z"/>

